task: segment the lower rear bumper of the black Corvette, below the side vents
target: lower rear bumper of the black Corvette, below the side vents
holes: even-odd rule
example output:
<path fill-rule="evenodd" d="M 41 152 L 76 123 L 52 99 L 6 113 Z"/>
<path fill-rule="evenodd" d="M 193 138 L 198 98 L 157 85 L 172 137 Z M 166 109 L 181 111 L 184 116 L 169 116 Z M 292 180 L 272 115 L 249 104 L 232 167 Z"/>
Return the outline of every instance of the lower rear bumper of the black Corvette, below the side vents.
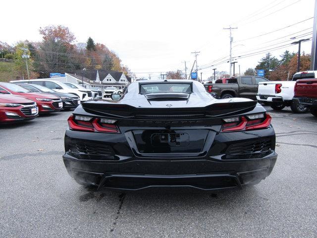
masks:
<path fill-rule="evenodd" d="M 261 159 L 219 162 L 197 158 L 172 161 L 149 159 L 125 162 L 83 161 L 65 153 L 67 172 L 78 183 L 99 189 L 142 190 L 151 187 L 190 187 L 199 190 L 242 188 L 265 179 L 272 171 L 277 155 Z"/>

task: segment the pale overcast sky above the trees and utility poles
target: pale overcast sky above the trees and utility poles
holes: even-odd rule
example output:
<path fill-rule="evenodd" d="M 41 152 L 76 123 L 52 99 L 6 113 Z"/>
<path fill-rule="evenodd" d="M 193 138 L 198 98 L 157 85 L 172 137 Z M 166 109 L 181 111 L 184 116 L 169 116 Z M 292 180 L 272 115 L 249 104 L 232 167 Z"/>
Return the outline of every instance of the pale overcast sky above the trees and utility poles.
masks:
<path fill-rule="evenodd" d="M 92 37 L 114 51 L 138 77 L 151 73 L 154 78 L 159 72 L 184 70 L 184 60 L 190 71 L 194 51 L 201 52 L 198 67 L 227 60 L 229 30 L 222 28 L 231 24 L 238 27 L 233 30 L 233 56 L 241 56 L 236 71 L 240 65 L 242 73 L 254 68 L 267 49 L 289 44 L 291 37 L 311 38 L 313 19 L 306 19 L 314 16 L 314 4 L 314 0 L 4 0 L 0 41 L 40 41 L 40 27 L 61 24 L 70 28 L 77 43 Z M 274 50 L 272 55 L 278 57 L 285 50 L 296 52 L 298 46 Z M 302 43 L 302 50 L 311 53 L 311 41 Z M 264 52 L 247 55 L 260 51 Z M 199 71 L 203 79 L 213 67 L 229 71 L 226 62 L 210 66 Z"/>

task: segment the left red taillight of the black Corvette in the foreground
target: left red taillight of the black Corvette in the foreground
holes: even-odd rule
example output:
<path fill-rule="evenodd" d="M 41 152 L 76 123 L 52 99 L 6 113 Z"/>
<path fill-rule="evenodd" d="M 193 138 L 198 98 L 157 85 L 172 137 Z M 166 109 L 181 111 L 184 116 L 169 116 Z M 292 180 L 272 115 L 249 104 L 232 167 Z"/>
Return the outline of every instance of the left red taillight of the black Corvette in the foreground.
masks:
<path fill-rule="evenodd" d="M 120 133 L 119 128 L 113 123 L 116 120 L 100 119 L 84 116 L 70 116 L 68 125 L 71 130 L 80 130 L 87 132 Z M 103 123 L 108 122 L 108 123 Z"/>

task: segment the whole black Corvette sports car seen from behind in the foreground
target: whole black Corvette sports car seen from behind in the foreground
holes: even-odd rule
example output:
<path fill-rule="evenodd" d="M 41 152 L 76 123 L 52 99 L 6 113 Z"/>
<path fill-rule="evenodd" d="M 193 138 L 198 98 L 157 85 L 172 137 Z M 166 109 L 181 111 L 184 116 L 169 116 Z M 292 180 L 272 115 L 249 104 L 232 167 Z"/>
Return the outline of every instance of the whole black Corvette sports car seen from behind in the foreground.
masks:
<path fill-rule="evenodd" d="M 197 81 L 141 80 L 117 101 L 73 112 L 63 161 L 78 183 L 98 189 L 242 188 L 274 167 L 270 121 L 257 101 L 214 99 Z"/>

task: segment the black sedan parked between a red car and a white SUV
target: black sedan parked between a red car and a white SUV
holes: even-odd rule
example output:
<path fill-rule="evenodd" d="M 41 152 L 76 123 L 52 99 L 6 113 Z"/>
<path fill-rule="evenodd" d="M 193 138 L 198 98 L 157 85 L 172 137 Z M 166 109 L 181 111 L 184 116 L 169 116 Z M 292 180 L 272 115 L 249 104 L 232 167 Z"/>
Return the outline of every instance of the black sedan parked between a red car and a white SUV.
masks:
<path fill-rule="evenodd" d="M 38 84 L 23 83 L 18 85 L 31 92 L 48 93 L 59 97 L 63 103 L 64 110 L 76 108 L 80 104 L 79 97 L 70 93 L 58 93 L 50 88 Z"/>

